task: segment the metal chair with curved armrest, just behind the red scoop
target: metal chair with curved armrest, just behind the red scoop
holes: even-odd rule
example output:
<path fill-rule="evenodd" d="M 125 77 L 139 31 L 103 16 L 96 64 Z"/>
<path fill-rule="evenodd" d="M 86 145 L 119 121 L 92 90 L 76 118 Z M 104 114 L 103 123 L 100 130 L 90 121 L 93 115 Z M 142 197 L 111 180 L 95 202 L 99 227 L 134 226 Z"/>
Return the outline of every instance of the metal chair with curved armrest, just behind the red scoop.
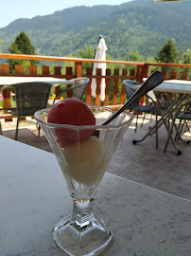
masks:
<path fill-rule="evenodd" d="M 58 99 L 60 99 L 61 96 L 64 95 L 64 93 L 69 91 L 73 91 L 72 98 L 78 99 L 80 101 L 82 100 L 83 95 L 86 91 L 87 84 L 90 81 L 90 79 L 84 77 L 84 78 L 73 79 L 72 81 L 75 82 L 75 85 L 69 88 L 66 88 L 64 90 L 61 90 L 61 93 L 59 93 L 54 99 L 53 105 L 55 104 L 56 101 L 59 101 Z"/>

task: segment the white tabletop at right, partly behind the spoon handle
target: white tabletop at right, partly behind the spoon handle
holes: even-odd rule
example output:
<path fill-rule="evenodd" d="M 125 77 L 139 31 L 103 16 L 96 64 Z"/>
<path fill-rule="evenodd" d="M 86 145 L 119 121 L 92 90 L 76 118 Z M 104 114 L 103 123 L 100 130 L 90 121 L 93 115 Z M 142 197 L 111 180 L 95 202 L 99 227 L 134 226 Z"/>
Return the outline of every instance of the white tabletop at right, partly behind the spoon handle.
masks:
<path fill-rule="evenodd" d="M 146 81 L 147 79 L 143 79 Z M 140 85 L 134 85 L 133 89 L 138 89 Z M 172 93 L 182 93 L 191 94 L 191 81 L 186 80 L 169 80 L 162 82 L 157 87 L 153 89 L 156 92 L 172 92 Z"/>

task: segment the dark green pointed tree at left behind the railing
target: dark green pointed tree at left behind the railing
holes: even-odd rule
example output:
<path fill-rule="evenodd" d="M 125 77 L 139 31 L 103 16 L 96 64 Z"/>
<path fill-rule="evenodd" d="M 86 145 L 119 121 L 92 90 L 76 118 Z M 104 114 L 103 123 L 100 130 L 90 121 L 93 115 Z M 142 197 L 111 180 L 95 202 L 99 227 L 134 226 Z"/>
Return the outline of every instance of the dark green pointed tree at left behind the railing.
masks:
<path fill-rule="evenodd" d="M 35 47 L 31 44 L 29 37 L 26 35 L 25 32 L 21 32 L 19 35 L 16 36 L 15 41 L 9 46 L 9 53 L 14 54 L 28 54 L 28 55 L 36 55 Z M 10 72 L 14 71 L 15 64 L 23 64 L 25 66 L 25 71 L 28 70 L 28 65 L 31 64 L 38 64 L 38 61 L 26 61 L 26 60 L 16 60 L 10 59 L 9 60 L 9 68 Z"/>

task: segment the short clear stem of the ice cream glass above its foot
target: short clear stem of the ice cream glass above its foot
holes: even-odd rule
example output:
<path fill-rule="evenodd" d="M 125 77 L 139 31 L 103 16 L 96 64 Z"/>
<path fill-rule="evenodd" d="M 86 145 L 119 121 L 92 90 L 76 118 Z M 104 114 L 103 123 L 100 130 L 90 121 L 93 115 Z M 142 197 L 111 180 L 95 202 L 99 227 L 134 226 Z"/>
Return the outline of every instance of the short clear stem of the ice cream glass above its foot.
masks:
<path fill-rule="evenodd" d="M 83 203 L 79 203 L 73 199 L 72 218 L 76 222 L 78 229 L 87 229 L 89 226 L 91 226 L 94 218 L 93 203 L 94 199 L 90 199 Z"/>

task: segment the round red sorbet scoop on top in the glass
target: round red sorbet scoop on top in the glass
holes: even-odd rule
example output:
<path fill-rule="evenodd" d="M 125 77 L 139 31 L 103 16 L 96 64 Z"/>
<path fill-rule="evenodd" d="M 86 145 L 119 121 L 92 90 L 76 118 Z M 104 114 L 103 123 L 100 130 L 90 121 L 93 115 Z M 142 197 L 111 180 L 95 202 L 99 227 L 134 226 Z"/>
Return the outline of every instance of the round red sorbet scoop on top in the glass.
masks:
<path fill-rule="evenodd" d="M 57 102 L 48 113 L 47 122 L 70 125 L 95 125 L 96 119 L 90 108 L 83 102 L 77 99 L 64 99 Z M 58 137 L 58 142 L 63 148 L 68 143 L 90 137 L 94 132 L 93 129 L 81 130 L 79 132 L 74 129 L 56 128 L 55 133 Z"/>

